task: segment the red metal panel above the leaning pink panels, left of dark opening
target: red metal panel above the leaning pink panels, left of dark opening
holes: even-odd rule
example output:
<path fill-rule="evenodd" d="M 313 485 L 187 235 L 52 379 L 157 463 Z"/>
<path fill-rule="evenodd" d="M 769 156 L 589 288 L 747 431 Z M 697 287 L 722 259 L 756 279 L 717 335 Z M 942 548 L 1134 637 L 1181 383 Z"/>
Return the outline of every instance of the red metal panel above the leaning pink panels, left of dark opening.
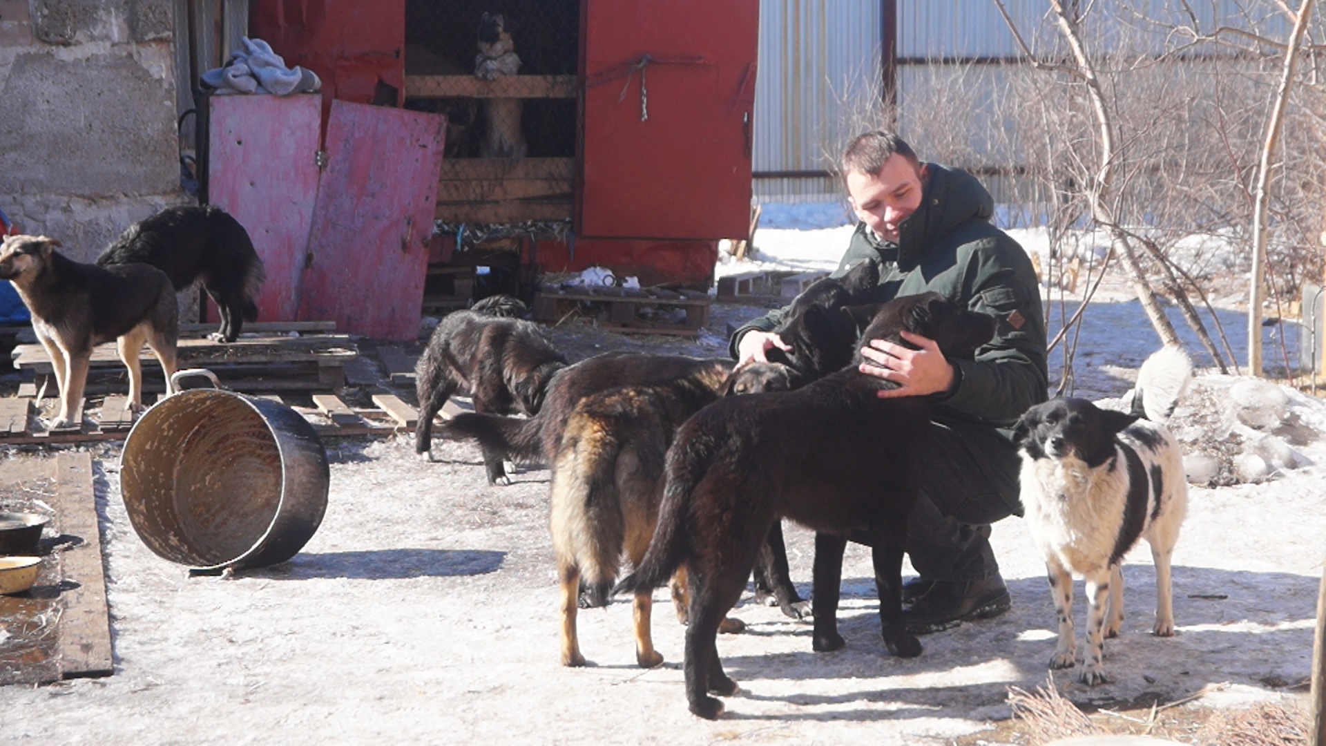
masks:
<path fill-rule="evenodd" d="M 326 109 L 332 100 L 402 104 L 404 0 L 255 0 L 251 8 L 255 36 L 286 65 L 322 78 Z"/>

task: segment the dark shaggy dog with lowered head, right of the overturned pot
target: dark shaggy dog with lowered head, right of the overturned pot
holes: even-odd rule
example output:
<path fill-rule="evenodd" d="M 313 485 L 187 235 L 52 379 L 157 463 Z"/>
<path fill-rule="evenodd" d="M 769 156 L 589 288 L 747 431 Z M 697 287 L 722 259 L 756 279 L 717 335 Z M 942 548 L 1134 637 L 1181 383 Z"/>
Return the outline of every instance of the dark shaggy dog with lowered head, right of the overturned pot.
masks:
<path fill-rule="evenodd" d="M 452 394 L 472 397 L 479 417 L 540 411 L 544 392 L 566 366 L 566 357 L 553 346 L 548 329 L 511 317 L 524 308 L 513 297 L 492 296 L 469 311 L 448 313 L 432 331 L 415 365 L 418 453 L 430 453 L 432 418 Z M 489 458 L 485 451 L 484 467 L 489 483 L 508 482 L 500 455 Z"/>

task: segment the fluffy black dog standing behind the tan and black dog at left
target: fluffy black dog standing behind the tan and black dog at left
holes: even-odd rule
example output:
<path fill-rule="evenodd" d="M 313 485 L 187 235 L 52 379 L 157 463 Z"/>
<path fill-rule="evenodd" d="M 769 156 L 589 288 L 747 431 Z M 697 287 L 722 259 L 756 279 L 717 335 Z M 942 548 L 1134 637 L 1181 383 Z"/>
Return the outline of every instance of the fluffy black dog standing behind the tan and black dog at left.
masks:
<path fill-rule="evenodd" d="M 175 292 L 202 280 L 221 313 L 211 340 L 233 342 L 244 321 L 257 320 L 263 259 L 244 226 L 220 207 L 167 207 L 130 226 L 97 258 L 99 267 L 134 261 L 166 272 Z"/>

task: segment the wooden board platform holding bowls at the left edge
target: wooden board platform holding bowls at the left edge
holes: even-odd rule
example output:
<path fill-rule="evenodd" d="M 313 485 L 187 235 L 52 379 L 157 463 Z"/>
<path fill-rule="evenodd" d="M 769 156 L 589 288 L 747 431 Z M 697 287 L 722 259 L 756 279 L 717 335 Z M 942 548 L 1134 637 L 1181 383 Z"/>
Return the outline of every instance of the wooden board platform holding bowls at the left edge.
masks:
<path fill-rule="evenodd" d="M 37 584 L 0 596 L 0 684 L 49 684 L 114 672 L 106 569 L 97 526 L 91 455 L 20 455 L 0 462 L 0 496 L 38 495 L 54 512 L 58 547 L 44 556 Z M 46 542 L 44 547 L 49 546 Z"/>

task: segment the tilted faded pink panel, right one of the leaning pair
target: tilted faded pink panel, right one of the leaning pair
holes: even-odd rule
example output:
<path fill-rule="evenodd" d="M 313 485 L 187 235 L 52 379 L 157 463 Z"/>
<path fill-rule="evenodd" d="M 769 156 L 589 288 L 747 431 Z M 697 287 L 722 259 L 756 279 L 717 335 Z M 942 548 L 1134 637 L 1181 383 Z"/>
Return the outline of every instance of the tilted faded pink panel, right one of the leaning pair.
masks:
<path fill-rule="evenodd" d="M 418 336 L 444 130 L 438 114 L 332 104 L 301 319 L 378 338 Z"/>

